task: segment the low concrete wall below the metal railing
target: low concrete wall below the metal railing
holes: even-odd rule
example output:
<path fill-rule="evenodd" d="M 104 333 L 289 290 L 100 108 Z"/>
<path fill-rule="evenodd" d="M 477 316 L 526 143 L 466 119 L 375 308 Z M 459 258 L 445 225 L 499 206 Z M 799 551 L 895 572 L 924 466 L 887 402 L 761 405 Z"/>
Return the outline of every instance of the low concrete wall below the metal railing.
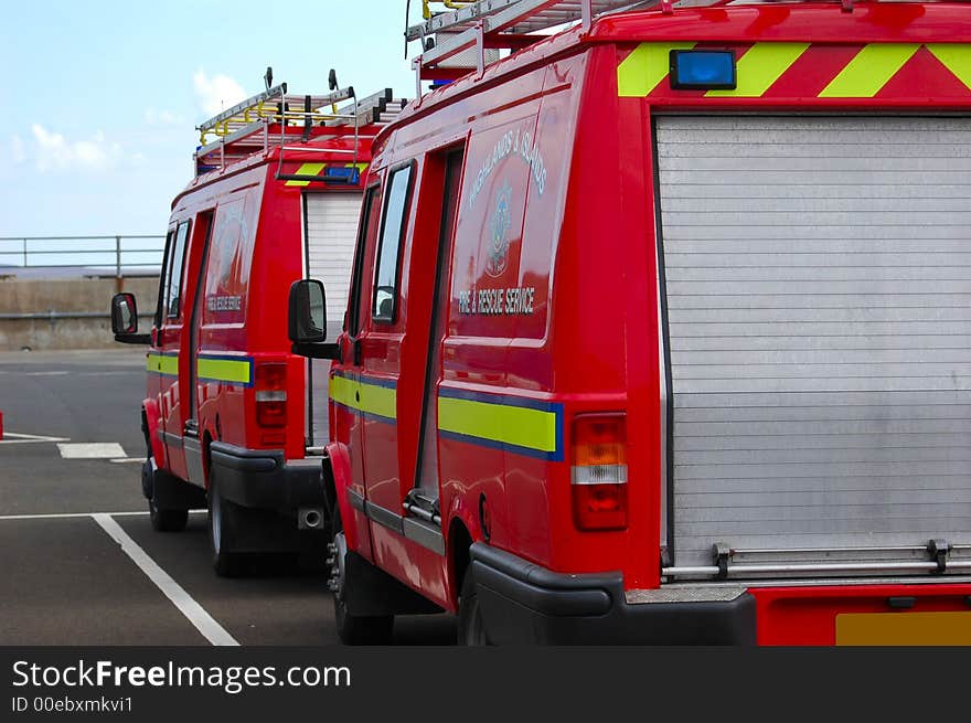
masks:
<path fill-rule="evenodd" d="M 154 311 L 158 277 L 79 279 L 0 279 L 0 315 L 97 312 L 89 319 L 0 318 L 0 351 L 23 348 L 103 349 L 117 345 L 111 336 L 109 307 L 116 291 L 131 291 L 138 300 L 139 331 L 150 329 L 145 315 Z"/>

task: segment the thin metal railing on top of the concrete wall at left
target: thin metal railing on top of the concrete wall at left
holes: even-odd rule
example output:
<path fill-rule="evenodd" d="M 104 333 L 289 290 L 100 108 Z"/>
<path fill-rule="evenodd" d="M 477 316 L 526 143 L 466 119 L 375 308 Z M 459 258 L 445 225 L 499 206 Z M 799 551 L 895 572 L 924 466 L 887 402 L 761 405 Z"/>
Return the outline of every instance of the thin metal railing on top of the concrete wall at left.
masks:
<path fill-rule="evenodd" d="M 162 266 L 162 235 L 114 236 L 0 236 L 0 274 L 24 268 L 81 267 L 114 272 Z"/>

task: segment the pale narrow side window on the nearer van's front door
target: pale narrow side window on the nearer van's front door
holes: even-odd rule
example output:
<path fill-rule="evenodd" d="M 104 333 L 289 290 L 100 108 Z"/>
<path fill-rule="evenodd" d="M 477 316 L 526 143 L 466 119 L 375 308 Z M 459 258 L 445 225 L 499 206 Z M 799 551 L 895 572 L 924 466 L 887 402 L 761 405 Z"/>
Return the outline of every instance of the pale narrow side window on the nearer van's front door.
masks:
<path fill-rule="evenodd" d="M 377 249 L 377 270 L 374 274 L 374 294 L 371 298 L 371 318 L 391 323 L 395 319 L 401 272 L 402 236 L 412 189 L 413 164 L 397 169 L 391 174 L 384 222 L 381 228 L 381 246 Z"/>

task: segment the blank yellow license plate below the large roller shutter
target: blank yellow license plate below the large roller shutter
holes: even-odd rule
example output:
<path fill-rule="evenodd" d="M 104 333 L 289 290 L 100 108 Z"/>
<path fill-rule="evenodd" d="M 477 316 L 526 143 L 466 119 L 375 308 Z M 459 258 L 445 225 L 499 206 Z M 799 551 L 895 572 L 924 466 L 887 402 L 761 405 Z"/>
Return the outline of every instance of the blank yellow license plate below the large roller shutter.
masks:
<path fill-rule="evenodd" d="M 836 645 L 971 646 L 971 613 L 844 613 Z"/>

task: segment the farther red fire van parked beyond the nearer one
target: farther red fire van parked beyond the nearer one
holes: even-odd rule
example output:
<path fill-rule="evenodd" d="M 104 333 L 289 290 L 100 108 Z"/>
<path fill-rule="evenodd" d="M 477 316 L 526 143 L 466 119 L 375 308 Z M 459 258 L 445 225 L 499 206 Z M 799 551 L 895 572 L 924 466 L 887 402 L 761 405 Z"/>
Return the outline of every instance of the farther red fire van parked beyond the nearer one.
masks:
<path fill-rule="evenodd" d="M 131 295 L 113 301 L 116 339 L 150 345 L 141 419 L 152 524 L 181 530 L 188 510 L 207 508 L 221 575 L 246 553 L 326 539 L 328 369 L 291 354 L 277 319 L 298 278 L 345 298 L 371 142 L 394 110 L 390 91 L 359 102 L 335 82 L 317 96 L 269 85 L 200 126 L 151 332 L 137 333 Z"/>

